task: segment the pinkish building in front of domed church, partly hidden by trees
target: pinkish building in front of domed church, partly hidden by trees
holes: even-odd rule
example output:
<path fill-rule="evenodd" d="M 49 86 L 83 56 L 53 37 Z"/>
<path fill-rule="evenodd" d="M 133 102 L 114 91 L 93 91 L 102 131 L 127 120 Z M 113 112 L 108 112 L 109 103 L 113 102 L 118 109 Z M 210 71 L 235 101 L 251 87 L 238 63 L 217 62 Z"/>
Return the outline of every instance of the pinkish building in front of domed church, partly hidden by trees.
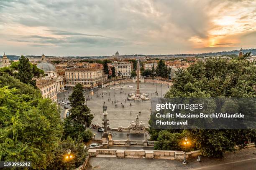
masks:
<path fill-rule="evenodd" d="M 50 98 L 51 101 L 57 102 L 56 81 L 54 80 L 37 80 L 36 87 L 41 91 L 44 98 Z"/>

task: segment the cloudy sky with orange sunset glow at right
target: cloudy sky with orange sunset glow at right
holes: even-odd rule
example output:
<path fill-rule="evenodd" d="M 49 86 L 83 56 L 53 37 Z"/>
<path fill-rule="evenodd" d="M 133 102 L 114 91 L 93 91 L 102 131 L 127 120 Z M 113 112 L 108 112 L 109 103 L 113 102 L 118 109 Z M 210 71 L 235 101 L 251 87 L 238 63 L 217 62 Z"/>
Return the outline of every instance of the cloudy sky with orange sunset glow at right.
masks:
<path fill-rule="evenodd" d="M 0 55 L 256 48 L 256 0 L 0 0 Z"/>

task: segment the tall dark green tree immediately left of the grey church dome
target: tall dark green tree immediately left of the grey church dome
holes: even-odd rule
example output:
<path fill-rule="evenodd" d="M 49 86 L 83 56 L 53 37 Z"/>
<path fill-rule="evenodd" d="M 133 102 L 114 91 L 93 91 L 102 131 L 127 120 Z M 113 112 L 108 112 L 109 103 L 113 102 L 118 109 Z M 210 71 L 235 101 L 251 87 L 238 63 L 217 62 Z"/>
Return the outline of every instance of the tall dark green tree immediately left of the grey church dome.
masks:
<path fill-rule="evenodd" d="M 19 59 L 19 65 L 18 65 L 18 75 L 17 78 L 26 84 L 33 85 L 36 87 L 36 81 L 32 80 L 34 77 L 33 75 L 33 68 L 30 65 L 30 62 L 28 58 L 21 55 Z"/>

